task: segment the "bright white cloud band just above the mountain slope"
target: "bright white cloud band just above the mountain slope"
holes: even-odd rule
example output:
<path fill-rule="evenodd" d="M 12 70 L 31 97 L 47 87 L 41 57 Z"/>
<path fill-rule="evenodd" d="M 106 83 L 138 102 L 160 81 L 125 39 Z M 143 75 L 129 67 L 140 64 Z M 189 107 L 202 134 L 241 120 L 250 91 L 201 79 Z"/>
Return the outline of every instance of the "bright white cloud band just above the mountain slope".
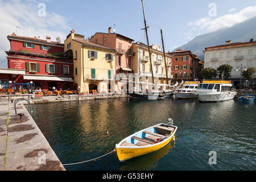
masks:
<path fill-rule="evenodd" d="M 199 27 L 200 30 L 212 32 L 220 28 L 232 27 L 234 24 L 244 22 L 254 16 L 256 16 L 256 6 L 249 6 L 238 13 L 226 14 L 216 19 L 211 19 L 209 17 L 201 18 L 195 22 L 189 22 L 188 26 L 196 26 Z"/>

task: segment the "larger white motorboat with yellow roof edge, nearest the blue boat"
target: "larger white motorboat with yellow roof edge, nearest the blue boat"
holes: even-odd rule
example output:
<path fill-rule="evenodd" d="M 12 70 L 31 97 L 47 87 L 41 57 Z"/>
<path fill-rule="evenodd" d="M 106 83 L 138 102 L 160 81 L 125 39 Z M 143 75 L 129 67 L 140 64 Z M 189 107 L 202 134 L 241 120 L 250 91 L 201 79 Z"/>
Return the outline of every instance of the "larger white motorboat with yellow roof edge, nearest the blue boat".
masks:
<path fill-rule="evenodd" d="M 203 81 L 199 84 L 195 94 L 201 102 L 228 101 L 237 94 L 231 88 L 231 81 Z"/>

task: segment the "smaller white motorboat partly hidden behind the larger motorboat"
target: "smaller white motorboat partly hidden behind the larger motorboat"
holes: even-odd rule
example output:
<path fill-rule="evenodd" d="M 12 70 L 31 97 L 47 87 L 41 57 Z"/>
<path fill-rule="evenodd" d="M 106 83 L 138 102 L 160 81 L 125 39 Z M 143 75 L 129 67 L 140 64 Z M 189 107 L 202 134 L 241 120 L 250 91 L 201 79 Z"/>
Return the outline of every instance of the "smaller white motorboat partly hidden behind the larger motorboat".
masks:
<path fill-rule="evenodd" d="M 185 81 L 182 88 L 175 90 L 175 97 L 177 99 L 197 98 L 195 91 L 198 84 L 200 84 L 200 81 Z"/>

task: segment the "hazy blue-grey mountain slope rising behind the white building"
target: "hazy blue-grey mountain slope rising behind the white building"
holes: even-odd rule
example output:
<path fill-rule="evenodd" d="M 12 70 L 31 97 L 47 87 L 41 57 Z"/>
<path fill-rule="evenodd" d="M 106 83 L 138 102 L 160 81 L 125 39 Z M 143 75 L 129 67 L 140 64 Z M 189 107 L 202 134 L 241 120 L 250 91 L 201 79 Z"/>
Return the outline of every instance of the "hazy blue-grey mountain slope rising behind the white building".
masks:
<path fill-rule="evenodd" d="M 191 50 L 195 55 L 204 60 L 203 50 L 205 47 L 218 46 L 225 44 L 226 40 L 234 42 L 249 42 L 250 39 L 256 39 L 256 16 L 245 22 L 238 23 L 230 28 L 222 28 L 220 30 L 196 36 L 183 46 L 174 49 Z M 203 58 L 203 59 L 202 59 Z"/>

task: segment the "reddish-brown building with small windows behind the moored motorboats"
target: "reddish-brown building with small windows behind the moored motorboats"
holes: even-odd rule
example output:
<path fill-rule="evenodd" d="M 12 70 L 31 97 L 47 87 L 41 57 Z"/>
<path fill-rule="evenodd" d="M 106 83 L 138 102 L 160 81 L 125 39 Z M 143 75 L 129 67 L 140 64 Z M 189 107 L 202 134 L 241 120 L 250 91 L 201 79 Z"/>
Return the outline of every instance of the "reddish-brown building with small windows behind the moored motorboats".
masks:
<path fill-rule="evenodd" d="M 173 80 L 195 80 L 200 79 L 201 64 L 191 51 L 177 49 L 175 52 L 168 52 L 172 55 L 172 76 Z"/>

